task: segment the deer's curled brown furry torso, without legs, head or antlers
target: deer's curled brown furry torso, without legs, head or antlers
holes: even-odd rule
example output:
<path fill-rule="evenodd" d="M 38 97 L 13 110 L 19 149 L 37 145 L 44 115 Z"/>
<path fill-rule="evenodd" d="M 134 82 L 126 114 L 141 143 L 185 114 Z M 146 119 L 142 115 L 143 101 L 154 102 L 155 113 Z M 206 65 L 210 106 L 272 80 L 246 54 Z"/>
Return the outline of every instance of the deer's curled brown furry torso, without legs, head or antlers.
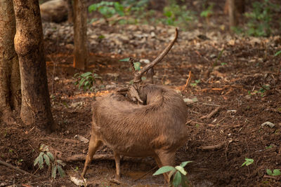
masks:
<path fill-rule="evenodd" d="M 101 97 L 93 104 L 93 133 L 122 155 L 147 156 L 164 148 L 176 150 L 185 142 L 187 107 L 174 91 L 148 85 L 146 105 L 123 95 Z"/>

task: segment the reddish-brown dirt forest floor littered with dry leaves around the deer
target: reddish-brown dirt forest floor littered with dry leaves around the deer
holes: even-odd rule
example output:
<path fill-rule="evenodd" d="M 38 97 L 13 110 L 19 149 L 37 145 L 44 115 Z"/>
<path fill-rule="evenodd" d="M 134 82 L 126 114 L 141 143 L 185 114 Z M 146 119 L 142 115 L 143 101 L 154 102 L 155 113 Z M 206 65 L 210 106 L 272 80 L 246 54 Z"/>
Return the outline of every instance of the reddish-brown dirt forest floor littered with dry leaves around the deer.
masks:
<path fill-rule="evenodd" d="M 57 28 L 55 39 L 50 31 L 53 27 Z M 155 83 L 177 90 L 189 109 L 188 141 L 177 151 L 176 164 L 193 161 L 185 167 L 192 186 L 281 186 L 281 176 L 266 173 L 266 169 L 281 169 L 281 57 L 274 56 L 281 50 L 281 38 L 242 37 L 218 28 L 207 25 L 180 30 L 175 46 L 155 67 Z M 71 32 L 67 23 L 44 24 L 53 118 L 62 129 L 47 135 L 23 125 L 19 118 L 13 126 L 0 123 L 0 159 L 36 175 L 0 165 L 0 186 L 75 186 L 70 176 L 79 177 L 84 161 L 66 162 L 67 176 L 51 179 L 46 167 L 33 165 L 40 144 L 60 151 L 64 158 L 86 155 L 88 144 L 75 136 L 90 138 L 91 103 L 129 85 L 133 78 L 128 62 L 119 60 L 130 56 L 153 60 L 173 37 L 174 28 L 89 25 L 86 71 L 97 69 L 103 78 L 96 84 L 96 92 L 74 85 L 73 76 L 79 71 L 72 67 Z M 191 83 L 181 90 L 190 71 Z M 262 125 L 265 122 L 274 127 Z M 96 154 L 112 151 L 103 146 Z M 245 158 L 254 162 L 242 167 Z M 163 176 L 152 176 L 155 166 L 152 158 L 124 158 L 121 183 L 117 184 L 114 160 L 94 160 L 86 179 L 89 186 L 164 186 Z"/>

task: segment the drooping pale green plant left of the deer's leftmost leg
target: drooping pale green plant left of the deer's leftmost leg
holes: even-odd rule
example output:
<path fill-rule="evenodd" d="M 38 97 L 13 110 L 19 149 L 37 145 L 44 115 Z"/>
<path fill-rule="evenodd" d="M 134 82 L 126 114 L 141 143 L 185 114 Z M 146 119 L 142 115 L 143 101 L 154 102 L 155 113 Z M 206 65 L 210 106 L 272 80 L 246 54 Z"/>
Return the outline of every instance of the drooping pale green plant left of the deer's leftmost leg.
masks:
<path fill-rule="evenodd" d="M 39 153 L 39 156 L 34 160 L 34 166 L 38 165 L 39 169 L 43 169 L 44 163 L 46 163 L 46 165 L 48 165 L 48 168 L 51 169 L 51 176 L 53 179 L 55 179 L 55 176 L 57 175 L 57 170 L 61 177 L 65 176 L 65 172 L 63 171 L 62 167 L 65 166 L 63 160 L 55 159 L 48 146 L 46 146 L 45 144 L 41 144 L 39 150 L 41 152 Z"/>

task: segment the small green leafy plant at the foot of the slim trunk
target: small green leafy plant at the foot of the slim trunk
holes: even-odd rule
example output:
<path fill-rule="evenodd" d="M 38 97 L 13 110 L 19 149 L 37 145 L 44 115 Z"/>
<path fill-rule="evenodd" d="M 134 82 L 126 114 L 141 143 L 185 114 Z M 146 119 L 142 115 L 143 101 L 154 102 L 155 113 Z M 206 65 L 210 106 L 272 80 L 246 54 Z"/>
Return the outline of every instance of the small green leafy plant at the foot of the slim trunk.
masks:
<path fill-rule="evenodd" d="M 81 89 L 81 87 L 86 90 L 93 91 L 96 86 L 94 85 L 96 83 L 96 80 L 99 79 L 100 81 L 102 78 L 95 73 L 96 69 L 93 69 L 93 72 L 86 72 L 83 74 L 74 74 L 74 79 L 76 81 L 74 82 L 74 85 L 78 85 L 78 88 Z"/>

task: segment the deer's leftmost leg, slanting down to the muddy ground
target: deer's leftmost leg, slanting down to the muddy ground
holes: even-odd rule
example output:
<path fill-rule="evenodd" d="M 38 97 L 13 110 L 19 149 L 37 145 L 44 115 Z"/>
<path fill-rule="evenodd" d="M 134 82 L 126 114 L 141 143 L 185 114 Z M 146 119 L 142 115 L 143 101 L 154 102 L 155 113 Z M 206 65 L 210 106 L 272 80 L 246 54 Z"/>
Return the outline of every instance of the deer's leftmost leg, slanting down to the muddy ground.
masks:
<path fill-rule="evenodd" d="M 88 155 L 86 156 L 86 161 L 85 161 L 84 169 L 83 169 L 83 172 L 81 174 L 82 177 L 85 176 L 86 171 L 88 169 L 88 165 L 93 160 L 93 155 L 96 153 L 96 151 L 98 150 L 98 148 L 102 144 L 103 144 L 103 141 L 101 141 L 100 139 L 97 139 L 96 135 L 94 135 L 94 134 L 91 135 L 91 139 L 90 139 L 90 142 L 89 142 Z"/>

